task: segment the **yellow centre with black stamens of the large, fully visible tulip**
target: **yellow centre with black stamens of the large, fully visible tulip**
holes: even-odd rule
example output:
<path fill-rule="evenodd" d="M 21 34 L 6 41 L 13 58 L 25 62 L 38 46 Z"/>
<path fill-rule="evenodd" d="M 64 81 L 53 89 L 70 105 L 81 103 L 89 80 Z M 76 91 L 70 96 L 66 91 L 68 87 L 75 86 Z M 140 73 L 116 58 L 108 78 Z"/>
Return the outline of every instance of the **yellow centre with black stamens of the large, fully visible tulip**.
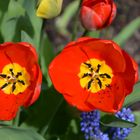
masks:
<path fill-rule="evenodd" d="M 104 90 L 112 82 L 112 69 L 105 61 L 90 59 L 80 66 L 80 85 L 92 93 Z"/>

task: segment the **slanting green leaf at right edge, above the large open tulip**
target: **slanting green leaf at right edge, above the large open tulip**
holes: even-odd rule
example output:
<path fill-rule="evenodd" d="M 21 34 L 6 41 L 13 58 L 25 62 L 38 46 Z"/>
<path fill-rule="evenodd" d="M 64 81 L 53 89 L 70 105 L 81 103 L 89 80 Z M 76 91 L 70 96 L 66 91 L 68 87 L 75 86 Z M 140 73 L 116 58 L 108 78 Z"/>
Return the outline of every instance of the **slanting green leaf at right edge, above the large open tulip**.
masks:
<path fill-rule="evenodd" d="M 122 29 L 122 31 L 116 37 L 114 37 L 113 40 L 117 44 L 123 45 L 139 28 L 140 28 L 140 17 L 130 22 L 125 28 Z"/>

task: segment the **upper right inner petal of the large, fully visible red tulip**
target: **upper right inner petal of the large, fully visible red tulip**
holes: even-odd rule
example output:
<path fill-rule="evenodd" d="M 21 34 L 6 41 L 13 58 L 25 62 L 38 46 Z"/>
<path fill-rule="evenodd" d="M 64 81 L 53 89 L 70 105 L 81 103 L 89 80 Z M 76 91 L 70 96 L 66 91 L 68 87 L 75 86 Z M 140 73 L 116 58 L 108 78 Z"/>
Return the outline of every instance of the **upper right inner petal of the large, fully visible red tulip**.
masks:
<path fill-rule="evenodd" d="M 113 68 L 114 72 L 124 72 L 125 59 L 117 44 L 112 41 L 95 39 L 82 43 L 82 49 L 90 58 L 94 56 L 94 58 L 106 60 L 106 63 Z"/>

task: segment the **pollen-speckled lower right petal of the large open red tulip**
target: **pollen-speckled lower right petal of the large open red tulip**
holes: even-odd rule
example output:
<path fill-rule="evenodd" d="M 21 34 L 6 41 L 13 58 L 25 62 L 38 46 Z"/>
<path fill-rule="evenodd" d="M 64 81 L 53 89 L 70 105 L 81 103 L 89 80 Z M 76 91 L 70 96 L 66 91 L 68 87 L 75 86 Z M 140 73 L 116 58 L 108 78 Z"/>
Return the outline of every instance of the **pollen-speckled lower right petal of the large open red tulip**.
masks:
<path fill-rule="evenodd" d="M 105 112 L 117 112 L 124 101 L 124 83 L 119 76 L 114 76 L 113 83 L 104 91 L 90 93 L 87 103 Z"/>

